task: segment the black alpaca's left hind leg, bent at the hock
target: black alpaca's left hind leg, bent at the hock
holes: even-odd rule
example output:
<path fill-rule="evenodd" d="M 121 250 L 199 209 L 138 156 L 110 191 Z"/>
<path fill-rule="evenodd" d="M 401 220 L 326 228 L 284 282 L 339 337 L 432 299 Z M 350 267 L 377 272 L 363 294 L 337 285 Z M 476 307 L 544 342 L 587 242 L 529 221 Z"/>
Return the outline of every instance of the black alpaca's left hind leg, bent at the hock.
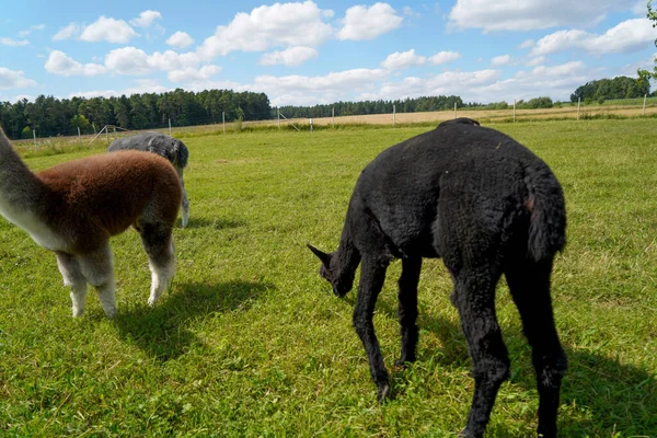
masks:
<path fill-rule="evenodd" d="M 462 437 L 482 437 L 491 418 L 497 391 L 509 377 L 509 356 L 495 314 L 498 276 L 489 267 L 462 269 L 454 276 L 452 301 L 472 357 L 474 395 Z"/>

